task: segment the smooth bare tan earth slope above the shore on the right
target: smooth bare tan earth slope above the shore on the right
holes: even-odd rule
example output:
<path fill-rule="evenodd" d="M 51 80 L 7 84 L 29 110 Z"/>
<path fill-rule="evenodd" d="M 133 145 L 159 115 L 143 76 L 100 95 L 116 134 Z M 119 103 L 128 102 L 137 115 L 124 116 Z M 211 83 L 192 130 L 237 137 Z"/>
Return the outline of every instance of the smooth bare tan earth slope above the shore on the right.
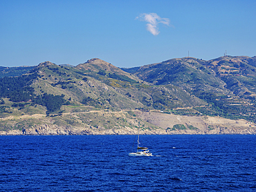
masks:
<path fill-rule="evenodd" d="M 170 115 L 164 113 L 141 112 L 136 114 L 166 131 L 162 134 L 255 134 L 255 124 L 245 119 L 232 120 L 222 117 Z M 181 124 L 184 127 L 174 128 Z"/>

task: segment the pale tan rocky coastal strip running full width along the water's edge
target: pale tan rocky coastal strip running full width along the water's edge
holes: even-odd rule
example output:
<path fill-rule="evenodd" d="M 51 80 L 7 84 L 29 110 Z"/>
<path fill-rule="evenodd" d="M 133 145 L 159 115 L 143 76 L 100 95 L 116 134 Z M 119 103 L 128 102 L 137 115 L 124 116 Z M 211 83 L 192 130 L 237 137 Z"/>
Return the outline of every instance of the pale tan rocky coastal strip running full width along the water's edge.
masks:
<path fill-rule="evenodd" d="M 142 125 L 141 135 L 255 135 L 256 126 L 245 119 L 225 119 L 210 116 L 183 116 L 156 112 L 133 111 L 136 117 L 127 117 L 127 111 L 105 112 L 93 111 L 94 116 L 100 115 L 115 124 L 107 127 L 100 119 L 96 124 L 90 119 L 82 121 L 80 114 L 69 114 L 77 124 L 57 124 L 66 117 L 26 116 L 26 122 L 19 129 L 0 131 L 0 135 L 136 135 L 138 122 Z M 95 113 L 97 113 L 95 115 Z M 67 116 L 70 117 L 70 116 Z M 99 117 L 99 116 L 98 116 Z M 96 118 L 96 117 L 95 117 Z M 118 120 L 117 120 L 118 119 Z M 10 122 L 10 119 L 6 119 Z M 37 120 L 37 121 L 36 121 Z M 24 120 L 25 121 L 25 120 Z M 36 123 L 35 123 L 36 122 Z M 110 124 L 110 123 L 109 123 Z M 113 126 L 113 127 L 111 127 Z"/>

